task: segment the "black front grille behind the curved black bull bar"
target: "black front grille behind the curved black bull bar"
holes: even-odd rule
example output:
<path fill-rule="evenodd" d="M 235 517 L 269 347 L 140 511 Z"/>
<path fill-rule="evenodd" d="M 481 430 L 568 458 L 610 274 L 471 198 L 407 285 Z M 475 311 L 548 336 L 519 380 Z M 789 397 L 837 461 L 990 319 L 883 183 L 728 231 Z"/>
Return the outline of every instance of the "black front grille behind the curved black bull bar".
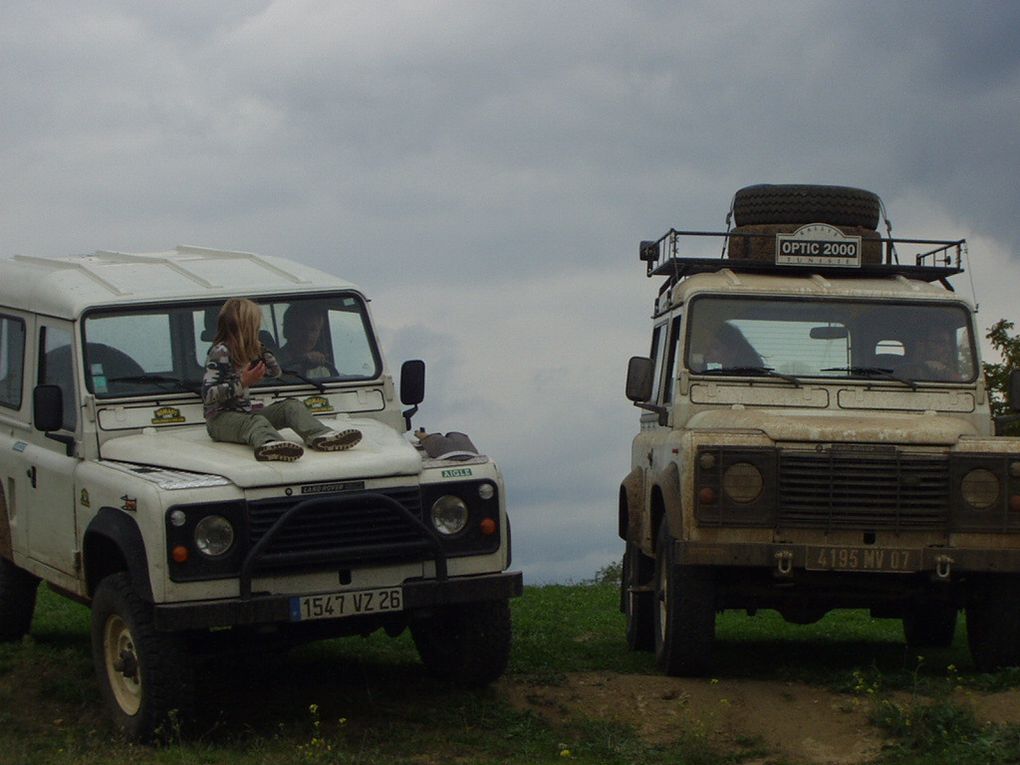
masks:
<path fill-rule="evenodd" d="M 421 520 L 421 496 L 414 487 L 318 496 L 314 507 L 299 511 L 273 537 L 258 567 L 381 563 L 429 557 L 431 548 L 420 526 L 372 495 L 395 500 Z M 248 503 L 251 545 L 256 545 L 299 501 L 280 497 Z"/>

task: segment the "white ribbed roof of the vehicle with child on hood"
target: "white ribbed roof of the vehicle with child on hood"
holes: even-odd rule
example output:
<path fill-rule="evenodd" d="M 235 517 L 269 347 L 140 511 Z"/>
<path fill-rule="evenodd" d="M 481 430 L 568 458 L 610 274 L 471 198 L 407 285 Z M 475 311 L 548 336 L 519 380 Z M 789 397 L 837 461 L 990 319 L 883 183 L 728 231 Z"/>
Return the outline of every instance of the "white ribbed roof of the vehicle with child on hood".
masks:
<path fill-rule="evenodd" d="M 93 306 L 357 290 L 332 274 L 250 252 L 167 252 L 0 259 L 0 305 L 75 318 Z"/>

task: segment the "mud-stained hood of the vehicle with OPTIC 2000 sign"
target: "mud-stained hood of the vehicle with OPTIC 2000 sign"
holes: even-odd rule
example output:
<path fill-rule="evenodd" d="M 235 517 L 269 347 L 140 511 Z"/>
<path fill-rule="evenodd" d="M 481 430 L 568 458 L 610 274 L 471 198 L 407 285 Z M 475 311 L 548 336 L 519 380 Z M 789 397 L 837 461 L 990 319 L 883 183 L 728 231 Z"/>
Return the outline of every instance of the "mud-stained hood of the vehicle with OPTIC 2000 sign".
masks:
<path fill-rule="evenodd" d="M 761 430 L 776 442 L 927 444 L 953 446 L 977 436 L 960 417 L 890 412 L 797 412 L 775 409 L 712 409 L 687 420 L 691 429 Z"/>

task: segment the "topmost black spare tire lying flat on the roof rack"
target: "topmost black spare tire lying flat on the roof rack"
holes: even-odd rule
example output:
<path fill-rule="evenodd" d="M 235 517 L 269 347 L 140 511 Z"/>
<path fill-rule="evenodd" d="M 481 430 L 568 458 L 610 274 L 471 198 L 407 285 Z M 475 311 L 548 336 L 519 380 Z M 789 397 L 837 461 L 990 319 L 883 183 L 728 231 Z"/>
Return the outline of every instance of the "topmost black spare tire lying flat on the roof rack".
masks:
<path fill-rule="evenodd" d="M 881 212 L 877 194 L 846 186 L 762 184 L 733 197 L 733 224 L 829 223 L 876 228 Z"/>

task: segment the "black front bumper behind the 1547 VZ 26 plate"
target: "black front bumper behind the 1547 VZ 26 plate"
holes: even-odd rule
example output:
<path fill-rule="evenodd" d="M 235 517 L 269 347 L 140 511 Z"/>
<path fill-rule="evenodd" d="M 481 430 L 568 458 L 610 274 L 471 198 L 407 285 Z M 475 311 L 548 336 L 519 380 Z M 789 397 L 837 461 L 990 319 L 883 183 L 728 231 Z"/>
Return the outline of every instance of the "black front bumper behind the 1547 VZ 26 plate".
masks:
<path fill-rule="evenodd" d="M 402 586 L 404 608 L 401 612 L 390 612 L 391 615 L 406 615 L 412 611 L 458 603 L 516 598 L 523 592 L 523 578 L 520 571 L 505 571 L 446 580 L 410 580 L 405 581 Z M 153 620 L 156 629 L 166 632 L 291 623 L 293 597 L 294 595 L 253 595 L 247 599 L 168 603 L 155 606 Z"/>

